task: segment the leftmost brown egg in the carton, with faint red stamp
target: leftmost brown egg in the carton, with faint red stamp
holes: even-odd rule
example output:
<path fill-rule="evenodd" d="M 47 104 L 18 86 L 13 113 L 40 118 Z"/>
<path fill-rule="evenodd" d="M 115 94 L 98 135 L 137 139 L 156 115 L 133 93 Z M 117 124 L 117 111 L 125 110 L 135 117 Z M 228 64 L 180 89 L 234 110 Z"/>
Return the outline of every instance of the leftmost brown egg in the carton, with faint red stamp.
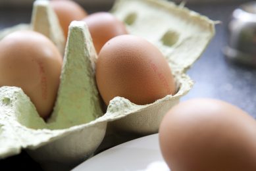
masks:
<path fill-rule="evenodd" d="M 53 109 L 61 66 L 57 47 L 42 34 L 17 31 L 0 41 L 0 86 L 21 87 L 43 118 Z"/>

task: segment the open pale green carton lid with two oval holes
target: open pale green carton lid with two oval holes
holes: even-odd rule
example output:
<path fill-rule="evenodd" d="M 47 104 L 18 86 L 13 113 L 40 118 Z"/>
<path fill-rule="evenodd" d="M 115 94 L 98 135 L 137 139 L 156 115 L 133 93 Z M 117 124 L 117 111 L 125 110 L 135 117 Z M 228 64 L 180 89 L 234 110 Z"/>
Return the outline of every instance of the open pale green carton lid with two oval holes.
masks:
<path fill-rule="evenodd" d="M 118 0 L 111 12 L 124 21 L 130 34 L 155 44 L 172 72 L 186 72 L 215 34 L 212 20 L 169 1 Z"/>

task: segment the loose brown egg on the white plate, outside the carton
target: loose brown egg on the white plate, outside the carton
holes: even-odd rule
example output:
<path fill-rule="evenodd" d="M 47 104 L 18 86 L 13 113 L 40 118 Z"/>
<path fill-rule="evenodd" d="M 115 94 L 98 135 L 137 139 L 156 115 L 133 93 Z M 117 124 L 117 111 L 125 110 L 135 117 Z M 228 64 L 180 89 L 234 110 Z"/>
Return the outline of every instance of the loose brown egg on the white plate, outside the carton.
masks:
<path fill-rule="evenodd" d="M 174 171 L 256 170 L 255 120 L 224 101 L 176 105 L 161 122 L 159 141 Z"/>

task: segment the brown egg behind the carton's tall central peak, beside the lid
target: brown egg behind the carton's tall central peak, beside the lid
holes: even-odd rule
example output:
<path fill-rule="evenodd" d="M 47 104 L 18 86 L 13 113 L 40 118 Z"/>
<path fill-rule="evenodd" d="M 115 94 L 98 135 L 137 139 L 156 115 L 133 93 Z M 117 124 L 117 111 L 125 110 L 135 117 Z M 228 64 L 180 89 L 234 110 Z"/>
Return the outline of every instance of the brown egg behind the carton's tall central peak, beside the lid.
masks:
<path fill-rule="evenodd" d="M 96 12 L 84 18 L 97 53 L 109 39 L 128 34 L 124 24 L 109 12 Z"/>

